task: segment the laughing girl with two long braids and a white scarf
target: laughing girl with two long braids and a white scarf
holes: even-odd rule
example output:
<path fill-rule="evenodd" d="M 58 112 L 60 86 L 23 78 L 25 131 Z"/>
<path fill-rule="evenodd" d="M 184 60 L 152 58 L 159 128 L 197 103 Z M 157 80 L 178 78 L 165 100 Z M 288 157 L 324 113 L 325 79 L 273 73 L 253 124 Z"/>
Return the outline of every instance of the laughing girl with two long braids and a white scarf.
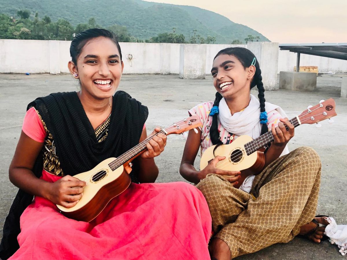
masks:
<path fill-rule="evenodd" d="M 294 126 L 277 105 L 265 102 L 259 62 L 240 47 L 218 52 L 211 70 L 217 90 L 214 102 L 189 110 L 202 123 L 200 135 L 190 131 L 180 166 L 181 175 L 196 184 L 208 202 L 213 237 L 212 259 L 230 259 L 274 243 L 286 243 L 301 234 L 319 243 L 327 220 L 315 217 L 321 162 L 309 147 L 289 153 Z M 257 86 L 259 100 L 250 93 Z M 286 129 L 288 127 L 288 130 Z M 229 144 L 238 136 L 253 139 L 271 131 L 274 141 L 265 152 L 265 168 L 242 183 L 240 172 L 216 168 L 226 157 L 216 156 L 197 171 L 194 161 L 212 145 Z M 234 186 L 241 184 L 237 189 Z M 325 236 L 324 236 L 325 239 Z"/>

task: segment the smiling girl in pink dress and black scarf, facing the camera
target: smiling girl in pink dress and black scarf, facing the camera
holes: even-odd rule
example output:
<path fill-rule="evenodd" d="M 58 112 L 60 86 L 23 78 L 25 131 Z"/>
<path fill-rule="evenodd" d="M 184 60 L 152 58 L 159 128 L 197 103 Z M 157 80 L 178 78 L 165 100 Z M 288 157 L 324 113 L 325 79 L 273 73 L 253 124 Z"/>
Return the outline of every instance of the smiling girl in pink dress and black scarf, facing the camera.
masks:
<path fill-rule="evenodd" d="M 83 31 L 70 55 L 80 90 L 40 97 L 27 107 L 9 167 L 19 191 L 3 227 L 0 258 L 209 259 L 211 216 L 203 194 L 184 182 L 154 183 L 163 134 L 147 142 L 133 161 L 132 183 L 96 218 L 77 221 L 59 212 L 56 204 L 71 208 L 85 196 L 89 180 L 74 175 L 147 136 L 147 107 L 117 91 L 124 63 L 116 36 L 100 28 Z"/>

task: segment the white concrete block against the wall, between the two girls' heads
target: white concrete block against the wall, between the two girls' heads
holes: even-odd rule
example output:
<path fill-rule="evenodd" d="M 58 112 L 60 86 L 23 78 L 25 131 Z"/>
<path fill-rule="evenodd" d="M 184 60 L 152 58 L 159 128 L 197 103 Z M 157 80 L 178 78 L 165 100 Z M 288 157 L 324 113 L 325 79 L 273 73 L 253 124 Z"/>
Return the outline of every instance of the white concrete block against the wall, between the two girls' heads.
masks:
<path fill-rule="evenodd" d="M 203 44 L 182 44 L 180 46 L 179 78 L 205 78 L 206 50 L 206 45 Z"/>

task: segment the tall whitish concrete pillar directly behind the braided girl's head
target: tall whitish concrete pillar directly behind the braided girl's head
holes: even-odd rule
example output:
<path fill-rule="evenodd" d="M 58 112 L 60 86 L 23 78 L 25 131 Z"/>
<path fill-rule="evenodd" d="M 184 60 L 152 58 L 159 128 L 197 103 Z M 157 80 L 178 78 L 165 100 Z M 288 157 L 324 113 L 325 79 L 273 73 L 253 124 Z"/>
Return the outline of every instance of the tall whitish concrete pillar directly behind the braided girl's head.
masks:
<path fill-rule="evenodd" d="M 265 90 L 277 90 L 279 44 L 276 42 L 249 42 L 247 49 L 258 59 Z"/>

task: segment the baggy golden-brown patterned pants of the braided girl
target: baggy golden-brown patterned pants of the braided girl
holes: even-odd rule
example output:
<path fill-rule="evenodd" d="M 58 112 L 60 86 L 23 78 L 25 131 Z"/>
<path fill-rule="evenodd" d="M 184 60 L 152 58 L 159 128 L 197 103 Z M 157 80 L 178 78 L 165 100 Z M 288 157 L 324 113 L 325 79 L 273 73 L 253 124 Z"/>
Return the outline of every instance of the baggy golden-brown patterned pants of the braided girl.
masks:
<path fill-rule="evenodd" d="M 320 178 L 318 154 L 300 147 L 256 175 L 251 194 L 217 174 L 196 187 L 209 205 L 214 237 L 225 241 L 235 258 L 291 241 L 315 216 Z"/>

